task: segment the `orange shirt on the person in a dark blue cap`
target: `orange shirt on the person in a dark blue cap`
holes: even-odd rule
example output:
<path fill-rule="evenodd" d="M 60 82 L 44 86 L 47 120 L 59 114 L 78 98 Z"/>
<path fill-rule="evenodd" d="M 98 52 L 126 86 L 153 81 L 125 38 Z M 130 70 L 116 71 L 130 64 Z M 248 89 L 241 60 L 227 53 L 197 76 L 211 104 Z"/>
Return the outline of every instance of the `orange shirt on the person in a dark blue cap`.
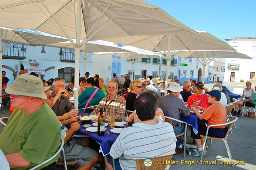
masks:
<path fill-rule="evenodd" d="M 204 113 L 202 113 L 202 117 L 208 121 L 208 126 L 212 124 L 227 123 L 226 109 L 221 103 L 214 103 L 211 106 L 209 106 L 208 109 L 206 109 Z M 227 126 L 224 125 L 224 126 L 218 126 L 214 128 L 223 129 L 225 127 Z"/>

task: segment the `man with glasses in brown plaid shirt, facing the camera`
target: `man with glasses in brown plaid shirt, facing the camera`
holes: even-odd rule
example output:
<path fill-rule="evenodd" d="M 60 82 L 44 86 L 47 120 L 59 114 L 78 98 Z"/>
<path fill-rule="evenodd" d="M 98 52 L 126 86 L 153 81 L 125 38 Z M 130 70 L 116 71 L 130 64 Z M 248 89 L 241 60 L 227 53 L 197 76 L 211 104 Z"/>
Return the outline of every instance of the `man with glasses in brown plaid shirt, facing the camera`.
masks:
<path fill-rule="evenodd" d="M 108 82 L 107 85 L 108 96 L 104 97 L 98 106 L 94 109 L 92 114 L 100 115 L 100 108 L 103 108 L 103 116 L 106 119 L 110 118 L 110 115 L 115 115 L 115 120 L 122 120 L 125 113 L 126 102 L 121 96 L 118 96 L 118 84 L 115 81 Z"/>

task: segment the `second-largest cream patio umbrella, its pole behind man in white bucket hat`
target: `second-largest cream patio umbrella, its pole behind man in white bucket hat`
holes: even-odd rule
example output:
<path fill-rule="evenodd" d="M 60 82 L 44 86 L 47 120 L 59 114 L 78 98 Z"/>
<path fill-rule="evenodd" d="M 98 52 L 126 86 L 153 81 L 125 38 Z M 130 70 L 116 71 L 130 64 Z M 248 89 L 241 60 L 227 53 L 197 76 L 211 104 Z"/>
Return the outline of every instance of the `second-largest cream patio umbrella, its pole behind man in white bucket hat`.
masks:
<path fill-rule="evenodd" d="M 165 87 L 168 84 L 168 74 L 170 60 L 175 55 L 179 56 L 182 50 L 229 50 L 236 51 L 228 43 L 214 37 L 208 32 L 197 31 L 195 33 L 172 34 L 172 35 L 152 35 L 152 36 L 133 36 L 130 39 L 112 38 L 112 42 L 123 42 L 131 46 L 143 48 L 151 51 L 158 51 L 166 56 L 166 75 Z M 167 91 L 165 90 L 165 94 Z"/>

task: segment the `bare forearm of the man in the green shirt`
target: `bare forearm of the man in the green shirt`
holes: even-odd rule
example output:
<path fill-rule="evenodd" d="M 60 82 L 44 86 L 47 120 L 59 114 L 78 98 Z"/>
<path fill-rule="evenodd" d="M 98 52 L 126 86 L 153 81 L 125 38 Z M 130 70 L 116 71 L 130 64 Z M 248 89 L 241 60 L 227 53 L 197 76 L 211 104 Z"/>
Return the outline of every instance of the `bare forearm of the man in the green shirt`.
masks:
<path fill-rule="evenodd" d="M 16 168 L 16 167 L 27 167 L 29 166 L 30 162 L 25 160 L 20 153 L 12 153 L 5 155 L 10 168 Z"/>

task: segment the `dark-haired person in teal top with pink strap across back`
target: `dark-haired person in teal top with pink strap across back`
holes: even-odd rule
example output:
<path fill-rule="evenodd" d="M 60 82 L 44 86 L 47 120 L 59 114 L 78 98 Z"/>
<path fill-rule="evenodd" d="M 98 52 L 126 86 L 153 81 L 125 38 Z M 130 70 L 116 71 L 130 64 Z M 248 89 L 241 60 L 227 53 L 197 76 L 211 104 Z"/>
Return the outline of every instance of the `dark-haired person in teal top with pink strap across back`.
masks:
<path fill-rule="evenodd" d="M 91 95 L 94 93 L 95 90 L 99 88 L 99 81 L 98 79 L 95 79 L 93 77 L 90 77 L 86 81 L 86 89 L 79 95 L 78 97 L 78 108 L 84 108 L 88 100 L 90 99 Z M 87 107 L 90 105 L 98 105 L 100 103 L 101 99 L 103 99 L 105 96 L 104 92 L 101 89 L 98 89 L 97 93 L 95 93 L 94 97 L 91 99 L 91 101 L 88 103 Z M 89 110 L 89 109 L 87 109 Z M 86 110 L 86 111 L 87 111 Z M 81 111 L 81 110 L 80 110 Z M 82 110 L 84 111 L 84 110 Z"/>

